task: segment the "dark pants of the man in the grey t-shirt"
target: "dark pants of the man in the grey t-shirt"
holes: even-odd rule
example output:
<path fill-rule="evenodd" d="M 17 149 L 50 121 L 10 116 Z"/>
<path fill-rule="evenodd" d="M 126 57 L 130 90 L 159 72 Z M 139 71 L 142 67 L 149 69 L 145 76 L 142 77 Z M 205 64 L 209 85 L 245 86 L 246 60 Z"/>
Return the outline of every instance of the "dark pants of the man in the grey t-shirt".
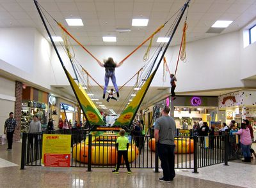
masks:
<path fill-rule="evenodd" d="M 175 145 L 166 145 L 162 143 L 157 143 L 157 151 L 159 159 L 161 161 L 161 167 L 163 169 L 163 179 L 166 181 L 173 180 L 175 177 L 174 170 L 174 148 Z"/>

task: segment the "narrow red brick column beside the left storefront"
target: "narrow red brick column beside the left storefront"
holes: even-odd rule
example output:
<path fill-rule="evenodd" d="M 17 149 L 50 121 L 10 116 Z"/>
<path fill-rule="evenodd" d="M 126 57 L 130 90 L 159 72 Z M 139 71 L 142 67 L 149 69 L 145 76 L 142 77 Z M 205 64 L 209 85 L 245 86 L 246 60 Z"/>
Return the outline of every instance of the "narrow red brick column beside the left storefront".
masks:
<path fill-rule="evenodd" d="M 20 140 L 20 120 L 21 120 L 21 103 L 22 103 L 22 83 L 16 81 L 15 83 L 15 120 L 17 122 L 17 127 L 15 129 L 15 135 L 13 136 L 13 141 Z"/>

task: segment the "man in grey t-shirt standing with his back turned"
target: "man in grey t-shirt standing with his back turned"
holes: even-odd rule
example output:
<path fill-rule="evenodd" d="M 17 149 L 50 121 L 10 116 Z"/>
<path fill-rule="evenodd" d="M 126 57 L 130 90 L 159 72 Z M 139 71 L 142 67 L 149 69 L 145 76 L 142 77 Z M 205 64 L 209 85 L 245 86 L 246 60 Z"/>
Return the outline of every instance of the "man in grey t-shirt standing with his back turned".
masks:
<path fill-rule="evenodd" d="M 170 108 L 164 106 L 161 112 L 162 117 L 156 120 L 154 132 L 158 155 L 163 169 L 163 178 L 159 178 L 159 181 L 166 183 L 170 183 L 175 177 L 174 136 L 176 125 L 175 120 L 168 115 L 169 112 Z"/>

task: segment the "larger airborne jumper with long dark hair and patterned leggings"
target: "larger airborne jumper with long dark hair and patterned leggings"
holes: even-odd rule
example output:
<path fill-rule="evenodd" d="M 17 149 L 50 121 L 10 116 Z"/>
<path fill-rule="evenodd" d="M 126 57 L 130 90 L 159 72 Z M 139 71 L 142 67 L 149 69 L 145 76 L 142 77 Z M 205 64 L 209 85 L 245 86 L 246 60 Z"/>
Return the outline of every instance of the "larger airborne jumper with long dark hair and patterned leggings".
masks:
<path fill-rule="evenodd" d="M 116 85 L 116 76 L 115 76 L 115 68 L 118 68 L 119 66 L 122 65 L 123 62 L 120 62 L 119 64 L 116 64 L 113 61 L 112 57 L 109 57 L 108 60 L 104 60 L 104 64 L 102 62 L 99 62 L 99 65 L 105 68 L 105 85 L 104 85 L 104 90 L 103 90 L 103 99 L 105 99 L 106 91 L 108 88 L 108 83 L 109 83 L 109 78 L 111 78 L 112 83 L 115 87 L 116 90 L 116 96 L 119 98 L 119 92 L 118 92 L 118 87 Z"/>

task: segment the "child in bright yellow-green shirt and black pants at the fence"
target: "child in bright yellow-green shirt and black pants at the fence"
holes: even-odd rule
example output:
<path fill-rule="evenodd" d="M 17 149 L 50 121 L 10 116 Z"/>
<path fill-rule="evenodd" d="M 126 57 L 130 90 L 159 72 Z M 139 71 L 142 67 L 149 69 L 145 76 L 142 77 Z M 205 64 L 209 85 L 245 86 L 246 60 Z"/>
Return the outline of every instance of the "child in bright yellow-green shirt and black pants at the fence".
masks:
<path fill-rule="evenodd" d="M 128 148 L 129 148 L 129 140 L 124 136 L 125 130 L 121 129 L 119 132 L 120 136 L 116 140 L 116 150 L 117 150 L 117 164 L 115 170 L 112 173 L 119 173 L 119 167 L 121 164 L 122 156 L 124 157 L 125 165 L 127 168 L 127 173 L 132 173 L 129 161 L 128 161 Z"/>

